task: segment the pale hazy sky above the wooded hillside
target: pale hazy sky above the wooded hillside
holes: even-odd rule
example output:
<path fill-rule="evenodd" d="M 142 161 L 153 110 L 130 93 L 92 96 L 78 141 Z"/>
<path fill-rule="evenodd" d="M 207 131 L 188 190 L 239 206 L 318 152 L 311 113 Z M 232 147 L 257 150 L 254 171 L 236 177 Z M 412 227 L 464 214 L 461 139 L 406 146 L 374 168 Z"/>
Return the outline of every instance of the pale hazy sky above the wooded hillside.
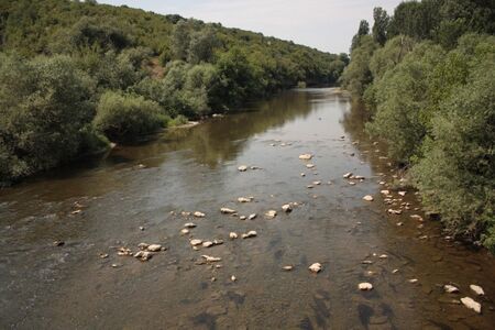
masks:
<path fill-rule="evenodd" d="M 161 14 L 179 14 L 292 40 L 324 52 L 348 53 L 362 19 L 373 8 L 389 14 L 402 0 L 99 0 Z"/>

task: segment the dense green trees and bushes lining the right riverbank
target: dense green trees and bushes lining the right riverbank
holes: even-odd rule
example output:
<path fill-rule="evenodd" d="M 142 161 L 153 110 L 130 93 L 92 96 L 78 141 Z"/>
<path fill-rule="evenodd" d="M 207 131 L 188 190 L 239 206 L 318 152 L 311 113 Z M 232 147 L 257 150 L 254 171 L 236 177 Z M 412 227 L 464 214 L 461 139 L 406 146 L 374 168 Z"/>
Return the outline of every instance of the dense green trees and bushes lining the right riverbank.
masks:
<path fill-rule="evenodd" d="M 373 16 L 352 40 L 342 85 L 426 208 L 495 252 L 494 2 L 408 1 Z"/>

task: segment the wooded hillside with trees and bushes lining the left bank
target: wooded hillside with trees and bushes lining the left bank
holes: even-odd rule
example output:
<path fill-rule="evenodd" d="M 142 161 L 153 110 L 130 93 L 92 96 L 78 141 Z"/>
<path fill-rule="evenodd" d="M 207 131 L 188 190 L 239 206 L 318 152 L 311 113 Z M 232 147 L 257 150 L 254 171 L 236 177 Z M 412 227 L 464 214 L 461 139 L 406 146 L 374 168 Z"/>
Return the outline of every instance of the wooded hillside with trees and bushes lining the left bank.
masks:
<path fill-rule="evenodd" d="M 0 1 L 0 182 L 297 85 L 349 63 L 226 29 L 96 1 Z"/>

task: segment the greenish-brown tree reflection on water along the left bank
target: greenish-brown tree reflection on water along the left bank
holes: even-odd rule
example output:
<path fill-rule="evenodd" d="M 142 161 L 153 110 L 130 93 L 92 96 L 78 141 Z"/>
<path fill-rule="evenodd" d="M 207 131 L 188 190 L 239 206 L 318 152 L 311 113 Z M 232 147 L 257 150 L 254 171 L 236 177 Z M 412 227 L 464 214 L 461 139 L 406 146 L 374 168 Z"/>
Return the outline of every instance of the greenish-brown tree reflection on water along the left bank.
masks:
<path fill-rule="evenodd" d="M 123 148 L 114 156 L 145 160 L 161 155 L 157 162 L 162 163 L 167 152 L 188 150 L 193 151 L 198 163 L 215 167 L 223 161 L 234 160 L 249 138 L 307 117 L 312 109 L 309 98 L 306 91 L 287 91 L 243 109 L 246 112 L 210 120 L 190 129 L 168 130 L 158 141 Z"/>

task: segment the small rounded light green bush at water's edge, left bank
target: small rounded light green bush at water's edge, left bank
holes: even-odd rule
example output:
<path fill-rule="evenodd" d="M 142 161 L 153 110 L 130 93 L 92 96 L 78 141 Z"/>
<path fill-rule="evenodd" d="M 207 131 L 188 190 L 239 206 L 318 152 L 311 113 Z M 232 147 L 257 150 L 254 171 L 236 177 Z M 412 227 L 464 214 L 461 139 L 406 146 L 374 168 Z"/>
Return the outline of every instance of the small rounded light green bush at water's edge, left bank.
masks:
<path fill-rule="evenodd" d="M 165 127 L 166 117 L 154 101 L 107 91 L 101 96 L 92 123 L 111 141 L 127 141 Z"/>

